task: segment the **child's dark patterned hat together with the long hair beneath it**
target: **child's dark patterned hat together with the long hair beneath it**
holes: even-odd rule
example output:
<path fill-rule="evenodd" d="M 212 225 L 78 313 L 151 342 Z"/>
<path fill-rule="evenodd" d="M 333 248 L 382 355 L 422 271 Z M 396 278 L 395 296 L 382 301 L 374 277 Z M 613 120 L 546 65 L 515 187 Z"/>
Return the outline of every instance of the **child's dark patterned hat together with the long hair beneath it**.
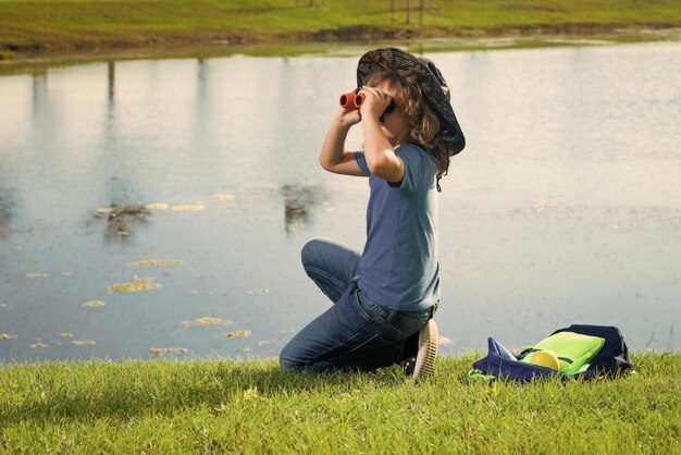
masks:
<path fill-rule="evenodd" d="M 438 164 L 437 177 L 447 173 L 449 157 L 466 146 L 463 133 L 449 102 L 449 87 L 435 64 L 396 48 L 375 49 L 357 65 L 358 85 L 388 81 L 394 102 L 408 119 L 401 143 L 418 144 Z"/>

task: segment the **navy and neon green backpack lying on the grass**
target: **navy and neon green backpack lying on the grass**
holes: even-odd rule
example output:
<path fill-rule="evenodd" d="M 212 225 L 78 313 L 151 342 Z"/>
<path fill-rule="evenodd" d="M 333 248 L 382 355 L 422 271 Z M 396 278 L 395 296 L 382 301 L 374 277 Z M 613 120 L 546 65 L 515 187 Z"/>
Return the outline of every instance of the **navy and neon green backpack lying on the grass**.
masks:
<path fill-rule="evenodd" d="M 616 327 L 572 324 L 556 330 L 516 356 L 493 337 L 478 372 L 527 382 L 546 378 L 611 377 L 633 368 L 624 337 Z M 474 371 L 475 371 L 474 370 Z"/>

